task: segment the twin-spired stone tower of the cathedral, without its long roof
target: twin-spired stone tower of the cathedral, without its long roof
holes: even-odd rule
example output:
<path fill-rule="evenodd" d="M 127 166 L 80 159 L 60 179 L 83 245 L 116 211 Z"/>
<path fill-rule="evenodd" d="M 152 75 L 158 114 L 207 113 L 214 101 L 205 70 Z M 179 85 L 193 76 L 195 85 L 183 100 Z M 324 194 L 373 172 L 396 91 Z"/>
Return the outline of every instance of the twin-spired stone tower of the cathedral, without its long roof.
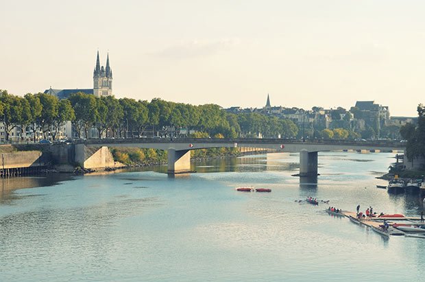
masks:
<path fill-rule="evenodd" d="M 112 69 L 109 65 L 109 54 L 106 58 L 106 68 L 100 66 L 99 51 L 95 71 L 93 72 L 93 94 L 96 97 L 112 95 Z"/>

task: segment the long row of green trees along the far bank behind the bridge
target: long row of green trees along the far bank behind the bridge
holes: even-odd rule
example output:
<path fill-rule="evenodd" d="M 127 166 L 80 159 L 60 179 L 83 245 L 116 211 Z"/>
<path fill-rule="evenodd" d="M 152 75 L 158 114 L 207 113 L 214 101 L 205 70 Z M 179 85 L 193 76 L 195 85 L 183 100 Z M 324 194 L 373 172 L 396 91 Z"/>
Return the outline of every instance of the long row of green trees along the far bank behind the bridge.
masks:
<path fill-rule="evenodd" d="M 113 96 L 95 97 L 84 93 L 58 99 L 45 93 L 24 97 L 0 91 L 0 121 L 5 125 L 5 139 L 14 128 L 21 132 L 40 132 L 42 138 L 55 140 L 66 121 L 71 121 L 78 137 L 139 137 L 147 128 L 153 132 L 185 128 L 223 137 L 295 137 L 298 127 L 289 119 L 256 113 L 235 115 L 220 106 L 193 106 L 152 99 L 151 102 Z M 169 134 L 175 134 L 169 132 Z"/>

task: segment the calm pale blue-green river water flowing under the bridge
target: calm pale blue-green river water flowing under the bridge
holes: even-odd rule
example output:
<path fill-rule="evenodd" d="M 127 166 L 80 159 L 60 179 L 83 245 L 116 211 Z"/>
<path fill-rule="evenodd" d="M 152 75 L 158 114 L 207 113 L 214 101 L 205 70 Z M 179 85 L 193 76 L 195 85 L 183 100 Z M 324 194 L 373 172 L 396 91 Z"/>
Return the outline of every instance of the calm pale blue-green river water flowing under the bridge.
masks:
<path fill-rule="evenodd" d="M 3 180 L 0 281 L 423 281 L 425 239 L 324 212 L 420 214 L 419 197 L 376 188 L 394 154 L 319 153 L 317 181 L 291 176 L 298 158 Z M 245 185 L 272 192 L 235 191 Z M 298 203 L 307 196 L 330 202 Z"/>

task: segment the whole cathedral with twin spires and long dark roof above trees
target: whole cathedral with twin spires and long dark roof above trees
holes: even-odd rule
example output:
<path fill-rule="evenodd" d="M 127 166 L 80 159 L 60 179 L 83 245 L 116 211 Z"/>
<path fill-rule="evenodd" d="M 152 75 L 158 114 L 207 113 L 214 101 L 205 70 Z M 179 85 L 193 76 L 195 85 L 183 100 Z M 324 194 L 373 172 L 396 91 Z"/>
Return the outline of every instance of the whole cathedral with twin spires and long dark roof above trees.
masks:
<path fill-rule="evenodd" d="M 72 93 L 82 92 L 96 97 L 112 95 L 112 69 L 109 64 L 109 54 L 106 57 L 106 67 L 100 65 L 99 51 L 97 51 L 96 66 L 93 71 L 93 89 L 47 89 L 45 93 L 66 99 Z"/>

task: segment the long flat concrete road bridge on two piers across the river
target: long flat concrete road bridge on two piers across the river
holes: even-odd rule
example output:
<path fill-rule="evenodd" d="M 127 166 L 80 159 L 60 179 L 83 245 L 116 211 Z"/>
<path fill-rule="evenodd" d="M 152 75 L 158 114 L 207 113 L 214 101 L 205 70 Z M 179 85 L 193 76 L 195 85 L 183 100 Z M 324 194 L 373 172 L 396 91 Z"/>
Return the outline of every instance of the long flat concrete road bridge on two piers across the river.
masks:
<path fill-rule="evenodd" d="M 317 152 L 337 150 L 404 151 L 398 141 L 345 141 L 296 139 L 89 139 L 75 144 L 76 152 L 86 147 L 153 148 L 167 150 L 168 172 L 178 174 L 191 169 L 191 150 L 207 148 L 263 148 L 275 152 L 299 152 L 300 176 L 317 176 Z"/>

